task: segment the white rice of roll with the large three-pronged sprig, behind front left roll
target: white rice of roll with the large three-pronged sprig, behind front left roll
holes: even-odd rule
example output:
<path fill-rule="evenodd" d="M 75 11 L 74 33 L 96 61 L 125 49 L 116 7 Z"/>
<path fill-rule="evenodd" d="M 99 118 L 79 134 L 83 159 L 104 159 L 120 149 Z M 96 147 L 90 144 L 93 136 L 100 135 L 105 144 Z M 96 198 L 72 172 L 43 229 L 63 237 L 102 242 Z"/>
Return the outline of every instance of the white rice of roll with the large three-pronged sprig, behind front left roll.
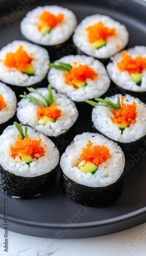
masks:
<path fill-rule="evenodd" d="M 37 91 L 44 97 L 48 94 L 46 88 L 39 88 Z M 37 111 L 39 106 L 30 103 L 29 99 L 21 99 L 18 102 L 17 117 L 21 123 L 28 124 L 47 136 L 58 136 L 65 133 L 76 122 L 78 118 L 78 110 L 75 103 L 65 95 L 56 93 L 55 90 L 52 90 L 52 92 L 57 108 L 62 111 L 61 116 L 55 122 L 38 120 Z M 41 96 L 38 94 L 30 94 L 42 100 Z"/>

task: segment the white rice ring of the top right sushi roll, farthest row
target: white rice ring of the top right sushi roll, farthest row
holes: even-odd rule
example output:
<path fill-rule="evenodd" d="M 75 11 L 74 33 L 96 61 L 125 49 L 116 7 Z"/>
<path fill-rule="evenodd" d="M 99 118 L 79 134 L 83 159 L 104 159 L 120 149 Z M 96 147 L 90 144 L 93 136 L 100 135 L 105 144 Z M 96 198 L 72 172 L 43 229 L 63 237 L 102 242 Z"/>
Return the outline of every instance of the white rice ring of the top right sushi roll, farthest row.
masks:
<path fill-rule="evenodd" d="M 86 31 L 86 28 L 96 25 L 99 22 L 103 22 L 104 26 L 108 28 L 115 28 L 116 35 L 107 39 L 106 46 L 95 49 L 88 40 L 88 31 Z M 128 44 L 128 40 L 129 33 L 124 25 L 121 25 L 119 22 L 110 18 L 109 16 L 101 14 L 94 14 L 84 18 L 77 26 L 73 36 L 73 41 L 76 47 L 83 53 L 91 55 L 95 58 L 109 58 L 113 54 L 124 49 Z M 119 46 L 118 48 L 117 45 Z"/>

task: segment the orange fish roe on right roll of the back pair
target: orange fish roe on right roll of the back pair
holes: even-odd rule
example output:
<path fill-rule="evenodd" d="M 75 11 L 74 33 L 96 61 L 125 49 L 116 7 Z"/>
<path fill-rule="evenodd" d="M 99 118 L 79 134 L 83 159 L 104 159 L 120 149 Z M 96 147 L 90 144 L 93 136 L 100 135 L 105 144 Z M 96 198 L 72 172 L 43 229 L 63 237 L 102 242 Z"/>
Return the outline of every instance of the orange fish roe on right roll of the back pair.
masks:
<path fill-rule="evenodd" d="M 91 43 L 98 41 L 99 39 L 107 40 L 108 37 L 116 35 L 116 29 L 105 27 L 102 22 L 90 26 L 86 28 L 86 30 L 88 31 L 88 38 Z"/>

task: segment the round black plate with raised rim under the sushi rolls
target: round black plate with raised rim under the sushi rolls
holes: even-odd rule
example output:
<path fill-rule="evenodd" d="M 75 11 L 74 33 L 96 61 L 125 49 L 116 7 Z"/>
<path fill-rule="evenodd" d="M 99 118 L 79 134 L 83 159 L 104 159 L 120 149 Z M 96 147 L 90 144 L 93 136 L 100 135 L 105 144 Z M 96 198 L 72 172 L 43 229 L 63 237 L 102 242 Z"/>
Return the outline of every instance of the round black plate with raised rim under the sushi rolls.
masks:
<path fill-rule="evenodd" d="M 55 0 L 49 2 L 0 0 L 0 47 L 12 40 L 21 39 L 19 29 L 21 19 L 34 7 L 48 3 L 71 9 L 77 15 L 78 22 L 85 16 L 95 13 L 109 15 L 126 25 L 130 33 L 128 47 L 146 44 L 146 3 L 140 0 L 70 0 L 61 3 Z M 69 54 L 69 47 L 66 51 Z M 76 134 L 90 131 L 90 111 L 85 116 L 83 118 L 80 116 L 74 129 Z M 68 142 L 65 137 L 60 139 L 58 141 L 60 150 Z M 30 236 L 57 239 L 88 238 L 122 231 L 144 223 L 146 220 L 145 154 L 144 149 L 141 149 L 137 155 L 131 155 L 126 162 L 123 192 L 115 203 L 107 207 L 84 207 L 67 199 L 60 187 L 59 167 L 55 185 L 36 199 L 14 199 L 1 192 L 1 227 L 4 227 L 4 199 L 7 198 L 9 230 Z"/>

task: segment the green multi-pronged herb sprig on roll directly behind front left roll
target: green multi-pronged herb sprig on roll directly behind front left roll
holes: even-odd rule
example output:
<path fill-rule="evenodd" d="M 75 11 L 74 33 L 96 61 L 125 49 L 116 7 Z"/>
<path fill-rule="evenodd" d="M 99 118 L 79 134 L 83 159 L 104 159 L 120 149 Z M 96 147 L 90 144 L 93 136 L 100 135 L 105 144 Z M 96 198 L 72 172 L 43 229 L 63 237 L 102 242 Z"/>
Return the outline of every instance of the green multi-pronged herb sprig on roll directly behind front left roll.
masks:
<path fill-rule="evenodd" d="M 52 90 L 51 90 L 52 89 L 51 83 L 48 84 L 48 87 L 47 87 L 48 94 L 47 94 L 46 98 L 32 87 L 27 87 L 27 89 L 29 92 L 36 93 L 39 96 L 41 96 L 44 99 L 45 103 L 43 103 L 42 100 L 37 99 L 32 95 L 27 95 L 26 92 L 24 92 L 24 94 L 20 94 L 19 97 L 29 99 L 29 102 L 31 102 L 33 104 L 37 104 L 37 105 L 42 105 L 42 106 L 44 106 L 44 108 L 46 108 L 47 106 L 50 106 L 54 102 L 54 97 L 53 97 Z"/>

